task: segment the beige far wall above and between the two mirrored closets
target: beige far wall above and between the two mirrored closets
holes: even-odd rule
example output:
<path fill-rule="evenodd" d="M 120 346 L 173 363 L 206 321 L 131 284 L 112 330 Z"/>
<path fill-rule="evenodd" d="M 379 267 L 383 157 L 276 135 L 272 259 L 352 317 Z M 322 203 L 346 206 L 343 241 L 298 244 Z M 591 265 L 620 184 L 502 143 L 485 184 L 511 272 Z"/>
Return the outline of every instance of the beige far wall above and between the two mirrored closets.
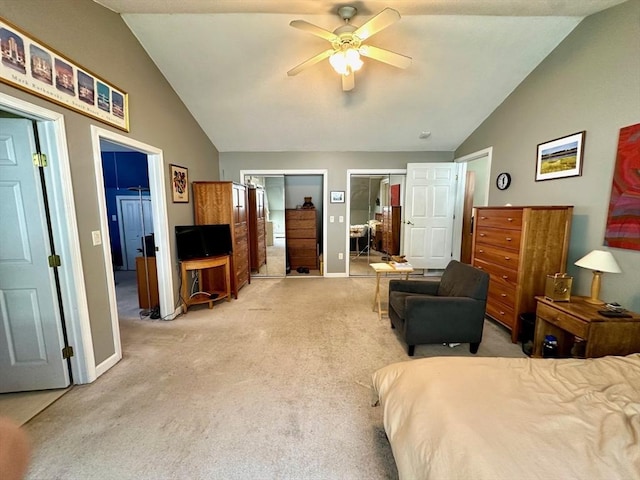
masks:
<path fill-rule="evenodd" d="M 244 152 L 220 154 L 220 177 L 224 180 L 240 181 L 240 170 L 312 170 L 326 169 L 327 190 L 347 191 L 347 170 L 351 169 L 401 169 L 407 163 L 451 162 L 453 152 Z M 345 253 L 348 234 L 346 203 L 325 203 L 325 216 L 345 218 L 327 223 L 327 244 L 324 250 L 325 271 L 330 274 L 346 272 Z"/>

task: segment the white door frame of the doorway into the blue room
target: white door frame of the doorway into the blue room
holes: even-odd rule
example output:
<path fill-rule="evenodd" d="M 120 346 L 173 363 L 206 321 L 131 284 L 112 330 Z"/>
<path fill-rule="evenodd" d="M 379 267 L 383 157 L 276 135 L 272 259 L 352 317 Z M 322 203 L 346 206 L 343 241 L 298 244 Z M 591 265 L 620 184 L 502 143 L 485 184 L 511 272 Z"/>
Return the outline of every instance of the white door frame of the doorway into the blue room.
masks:
<path fill-rule="evenodd" d="M 109 219 L 107 216 L 106 194 L 104 190 L 104 175 L 102 173 L 102 155 L 100 152 L 100 139 L 103 138 L 112 143 L 124 145 L 147 155 L 147 168 L 149 170 L 149 189 L 153 209 L 153 230 L 156 247 L 156 267 L 158 269 L 158 294 L 160 298 L 161 318 L 172 320 L 180 309 L 174 307 L 173 270 L 171 269 L 171 256 L 169 249 L 169 219 L 167 217 L 167 196 L 165 184 L 165 164 L 162 150 L 146 143 L 139 142 L 124 135 L 91 125 L 91 142 L 93 146 L 93 161 L 96 175 L 96 189 L 98 195 L 98 210 L 100 215 L 100 230 L 102 238 L 109 238 Z M 109 307 L 111 310 L 111 324 L 113 327 L 113 344 L 115 353 L 97 366 L 101 375 L 122 358 L 122 345 L 120 343 L 120 326 L 118 325 L 118 304 L 116 301 L 116 283 L 113 275 L 113 260 L 111 257 L 111 242 L 102 242 L 102 253 L 107 267 L 107 290 L 109 294 Z"/>

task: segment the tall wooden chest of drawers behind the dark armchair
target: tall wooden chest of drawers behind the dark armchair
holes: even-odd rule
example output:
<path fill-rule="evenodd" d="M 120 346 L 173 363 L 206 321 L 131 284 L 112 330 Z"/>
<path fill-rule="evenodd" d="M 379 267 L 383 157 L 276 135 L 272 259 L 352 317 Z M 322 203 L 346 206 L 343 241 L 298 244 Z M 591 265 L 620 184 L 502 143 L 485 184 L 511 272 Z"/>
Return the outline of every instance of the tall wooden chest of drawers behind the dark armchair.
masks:
<path fill-rule="evenodd" d="M 476 207 L 471 263 L 489 273 L 487 315 L 518 340 L 546 276 L 566 271 L 570 206 Z"/>

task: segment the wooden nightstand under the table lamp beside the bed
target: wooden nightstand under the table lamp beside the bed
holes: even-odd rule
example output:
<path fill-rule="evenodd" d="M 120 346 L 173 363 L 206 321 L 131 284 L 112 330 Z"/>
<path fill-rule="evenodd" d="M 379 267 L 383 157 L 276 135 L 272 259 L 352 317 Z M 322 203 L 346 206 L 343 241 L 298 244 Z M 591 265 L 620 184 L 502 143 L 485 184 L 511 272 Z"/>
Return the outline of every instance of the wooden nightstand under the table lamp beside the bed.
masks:
<path fill-rule="evenodd" d="M 640 352 L 640 315 L 626 312 L 630 318 L 600 315 L 604 305 L 592 305 L 586 297 L 571 297 L 570 302 L 553 302 L 536 297 L 534 357 L 542 356 L 545 335 L 558 339 L 558 356 L 572 356 L 576 337 L 584 341 L 580 358 L 628 355 Z"/>

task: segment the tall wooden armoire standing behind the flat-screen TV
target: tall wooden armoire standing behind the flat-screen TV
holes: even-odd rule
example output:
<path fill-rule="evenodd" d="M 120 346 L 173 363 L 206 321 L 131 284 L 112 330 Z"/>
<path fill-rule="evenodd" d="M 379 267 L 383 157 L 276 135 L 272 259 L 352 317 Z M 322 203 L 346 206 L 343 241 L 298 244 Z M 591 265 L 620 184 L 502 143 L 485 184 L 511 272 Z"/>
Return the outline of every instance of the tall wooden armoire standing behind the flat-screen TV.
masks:
<path fill-rule="evenodd" d="M 231 291 L 238 298 L 238 290 L 250 281 L 246 187 L 234 182 L 193 182 L 192 185 L 196 225 L 229 224 L 231 227 Z M 203 271 L 203 290 L 224 289 L 224 275 L 219 270 Z"/>

